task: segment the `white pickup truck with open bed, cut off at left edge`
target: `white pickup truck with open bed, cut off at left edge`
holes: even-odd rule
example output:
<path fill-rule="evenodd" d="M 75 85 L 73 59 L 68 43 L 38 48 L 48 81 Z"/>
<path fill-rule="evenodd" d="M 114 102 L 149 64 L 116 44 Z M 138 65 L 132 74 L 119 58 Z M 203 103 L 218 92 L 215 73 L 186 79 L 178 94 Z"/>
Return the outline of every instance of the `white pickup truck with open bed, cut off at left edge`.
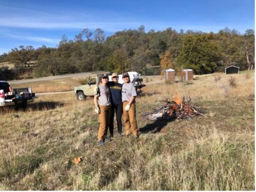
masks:
<path fill-rule="evenodd" d="M 12 89 L 6 81 L 0 81 L 0 107 L 14 105 L 15 108 L 26 108 L 27 103 L 37 97 L 31 87 Z"/>

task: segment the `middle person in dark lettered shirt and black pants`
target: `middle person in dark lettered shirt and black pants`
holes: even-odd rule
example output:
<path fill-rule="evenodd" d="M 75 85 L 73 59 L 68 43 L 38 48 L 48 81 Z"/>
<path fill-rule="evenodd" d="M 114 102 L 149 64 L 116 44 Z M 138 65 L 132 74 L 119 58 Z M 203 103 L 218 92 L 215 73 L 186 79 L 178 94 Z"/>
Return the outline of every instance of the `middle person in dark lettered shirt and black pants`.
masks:
<path fill-rule="evenodd" d="M 117 121 L 117 129 L 118 129 L 118 136 L 121 137 L 122 133 L 122 84 L 118 83 L 118 74 L 112 74 L 112 82 L 109 81 L 108 85 L 110 87 L 110 94 L 111 94 L 111 115 L 110 115 L 110 137 L 114 136 L 114 115 L 116 111 L 116 121 Z"/>

